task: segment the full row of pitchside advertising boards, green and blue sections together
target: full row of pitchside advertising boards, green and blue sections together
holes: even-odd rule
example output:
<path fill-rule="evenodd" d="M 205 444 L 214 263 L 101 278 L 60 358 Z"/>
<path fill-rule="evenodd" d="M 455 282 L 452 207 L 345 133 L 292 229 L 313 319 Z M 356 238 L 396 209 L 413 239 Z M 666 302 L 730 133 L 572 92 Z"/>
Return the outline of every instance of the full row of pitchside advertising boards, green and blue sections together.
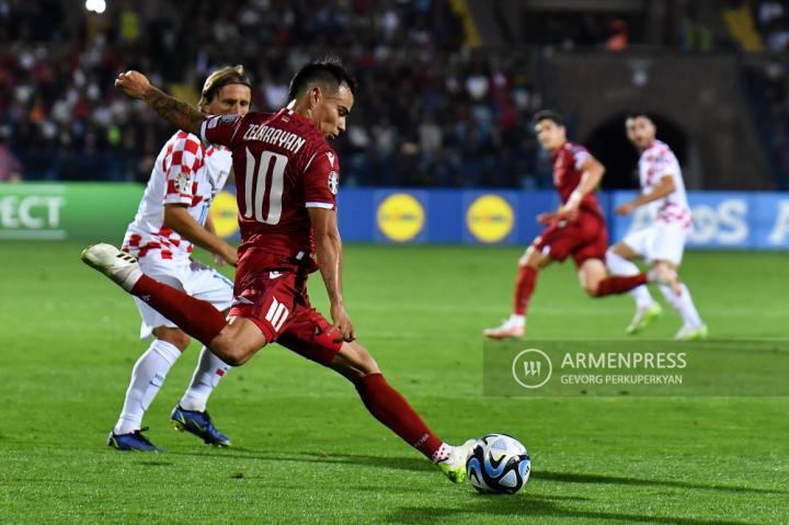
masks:
<path fill-rule="evenodd" d="M 0 239 L 119 242 L 134 217 L 138 184 L 0 185 Z M 630 217 L 614 208 L 633 192 L 599 195 L 611 241 L 644 225 L 647 209 Z M 701 249 L 789 250 L 789 194 L 689 192 L 694 232 Z M 554 192 L 487 190 L 343 189 L 340 228 L 351 242 L 527 244 L 540 231 L 535 216 L 554 209 Z M 217 232 L 238 240 L 236 197 L 220 192 L 211 208 Z"/>

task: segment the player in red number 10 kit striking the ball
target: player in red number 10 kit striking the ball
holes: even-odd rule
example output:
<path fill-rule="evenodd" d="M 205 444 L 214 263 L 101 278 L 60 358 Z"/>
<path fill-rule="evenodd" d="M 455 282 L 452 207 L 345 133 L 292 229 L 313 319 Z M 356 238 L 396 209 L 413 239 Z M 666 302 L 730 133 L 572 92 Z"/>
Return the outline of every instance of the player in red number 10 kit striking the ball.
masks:
<path fill-rule="evenodd" d="M 110 244 L 82 259 L 178 323 L 232 366 L 272 342 L 351 380 L 369 412 L 427 456 L 455 482 L 466 478 L 474 440 L 442 442 L 384 378 L 355 329 L 342 295 L 342 244 L 336 221 L 340 159 L 328 139 L 345 130 L 355 81 L 336 60 L 304 66 L 276 113 L 205 117 L 150 85 L 136 71 L 116 85 L 142 99 L 180 128 L 230 148 L 236 173 L 241 246 L 229 320 L 216 308 L 145 275 L 134 258 Z M 327 321 L 307 295 L 318 267 L 331 303 Z"/>

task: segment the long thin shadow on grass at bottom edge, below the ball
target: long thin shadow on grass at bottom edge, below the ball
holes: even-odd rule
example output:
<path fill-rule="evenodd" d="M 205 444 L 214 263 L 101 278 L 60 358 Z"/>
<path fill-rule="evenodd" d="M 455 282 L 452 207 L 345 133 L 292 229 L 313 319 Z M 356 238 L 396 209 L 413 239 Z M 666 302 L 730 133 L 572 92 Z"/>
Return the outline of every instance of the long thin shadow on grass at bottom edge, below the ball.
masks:
<path fill-rule="evenodd" d="M 420 523 L 453 523 L 462 521 L 464 514 L 479 514 L 485 516 L 512 516 L 527 521 L 536 517 L 553 517 L 565 520 L 596 520 L 603 523 L 631 522 L 653 523 L 667 525 L 748 525 L 746 522 L 728 522 L 720 520 L 697 520 L 676 516 L 650 516 L 645 514 L 626 514 L 619 512 L 592 511 L 569 509 L 558 505 L 552 497 L 531 495 L 528 493 L 513 497 L 484 497 L 478 495 L 467 504 L 456 502 L 451 509 L 435 506 L 405 506 L 400 507 L 387 516 L 387 522 L 420 524 Z"/>

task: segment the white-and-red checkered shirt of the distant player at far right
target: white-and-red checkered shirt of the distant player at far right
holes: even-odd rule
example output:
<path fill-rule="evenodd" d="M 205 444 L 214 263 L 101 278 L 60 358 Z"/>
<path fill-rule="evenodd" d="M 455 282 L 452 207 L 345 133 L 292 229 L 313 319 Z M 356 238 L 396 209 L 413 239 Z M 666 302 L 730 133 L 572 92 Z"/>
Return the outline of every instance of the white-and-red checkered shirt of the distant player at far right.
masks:
<path fill-rule="evenodd" d="M 639 159 L 641 193 L 647 195 L 652 193 L 661 179 L 666 175 L 674 179 L 675 190 L 670 195 L 649 203 L 652 218 L 655 221 L 677 224 L 684 229 L 689 229 L 693 226 L 693 218 L 679 162 L 665 142 L 655 140 Z"/>

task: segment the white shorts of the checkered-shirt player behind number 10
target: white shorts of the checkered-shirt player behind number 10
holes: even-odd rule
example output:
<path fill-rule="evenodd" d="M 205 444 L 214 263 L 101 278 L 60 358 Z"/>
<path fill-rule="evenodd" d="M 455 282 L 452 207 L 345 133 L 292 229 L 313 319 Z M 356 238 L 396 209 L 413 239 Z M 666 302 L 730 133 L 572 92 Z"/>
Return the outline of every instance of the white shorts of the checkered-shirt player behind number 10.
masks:
<path fill-rule="evenodd" d="M 148 276 L 196 299 L 206 300 L 219 311 L 227 310 L 232 304 L 232 281 L 203 263 L 188 259 L 162 261 L 158 258 L 140 258 L 139 264 Z M 150 338 L 157 327 L 175 328 L 170 319 L 156 311 L 144 300 L 135 297 L 135 303 L 137 303 L 137 309 L 142 317 L 140 339 Z"/>

